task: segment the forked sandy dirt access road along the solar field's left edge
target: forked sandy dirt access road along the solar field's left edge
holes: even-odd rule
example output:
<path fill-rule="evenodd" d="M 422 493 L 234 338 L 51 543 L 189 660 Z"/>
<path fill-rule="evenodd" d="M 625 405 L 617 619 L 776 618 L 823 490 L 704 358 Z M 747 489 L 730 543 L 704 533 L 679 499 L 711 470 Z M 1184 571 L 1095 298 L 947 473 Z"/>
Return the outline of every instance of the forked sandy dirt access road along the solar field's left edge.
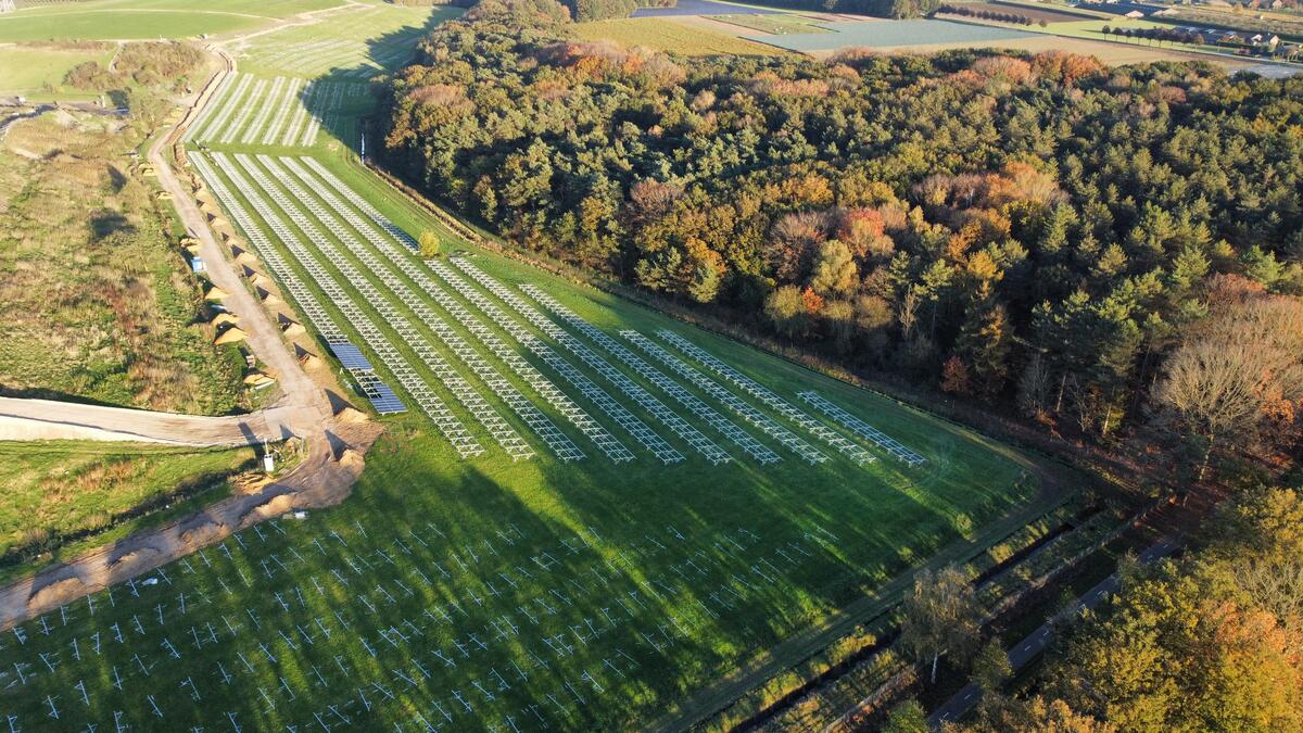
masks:
<path fill-rule="evenodd" d="M 232 59 L 219 55 L 225 65 L 224 73 L 233 72 Z M 271 316 L 240 280 L 229 260 L 231 253 L 218 243 L 189 187 L 181 183 L 171 166 L 167 153 L 177 145 L 180 134 L 202 106 L 211 102 L 212 89 L 222 77 L 223 73 L 218 73 L 208 81 L 182 121 L 150 147 L 149 158 L 158 171 L 159 184 L 172 194 L 181 222 L 199 241 L 212 283 L 231 293 L 223 305 L 240 317 L 249 348 L 280 383 L 283 394 L 276 403 L 236 419 L 235 429 L 241 434 L 246 429 L 254 434 L 259 430 L 288 432 L 304 440 L 306 455 L 288 476 L 254 493 L 232 496 L 195 515 L 133 535 L 0 588 L 0 630 L 149 573 L 265 519 L 339 503 L 357 481 L 365 466 L 364 454 L 382 432 L 375 423 L 361 419 L 357 411 L 348 412 L 351 419 L 336 420 L 336 407 L 341 407 L 343 400 L 327 393 L 327 386 L 334 385 L 330 369 L 319 366 L 315 380 L 304 370 Z M 128 413 L 121 415 L 106 408 L 91 410 L 93 406 L 56 404 L 63 404 L 63 415 L 72 423 L 91 423 L 121 433 L 155 432 L 155 437 L 172 441 L 193 440 L 194 419 L 190 416 L 132 410 L 120 411 Z M 55 424 L 52 420 L 47 423 Z M 228 436 L 225 430 L 231 425 L 210 425 L 208 429 L 216 430 L 208 438 L 222 440 Z"/>

